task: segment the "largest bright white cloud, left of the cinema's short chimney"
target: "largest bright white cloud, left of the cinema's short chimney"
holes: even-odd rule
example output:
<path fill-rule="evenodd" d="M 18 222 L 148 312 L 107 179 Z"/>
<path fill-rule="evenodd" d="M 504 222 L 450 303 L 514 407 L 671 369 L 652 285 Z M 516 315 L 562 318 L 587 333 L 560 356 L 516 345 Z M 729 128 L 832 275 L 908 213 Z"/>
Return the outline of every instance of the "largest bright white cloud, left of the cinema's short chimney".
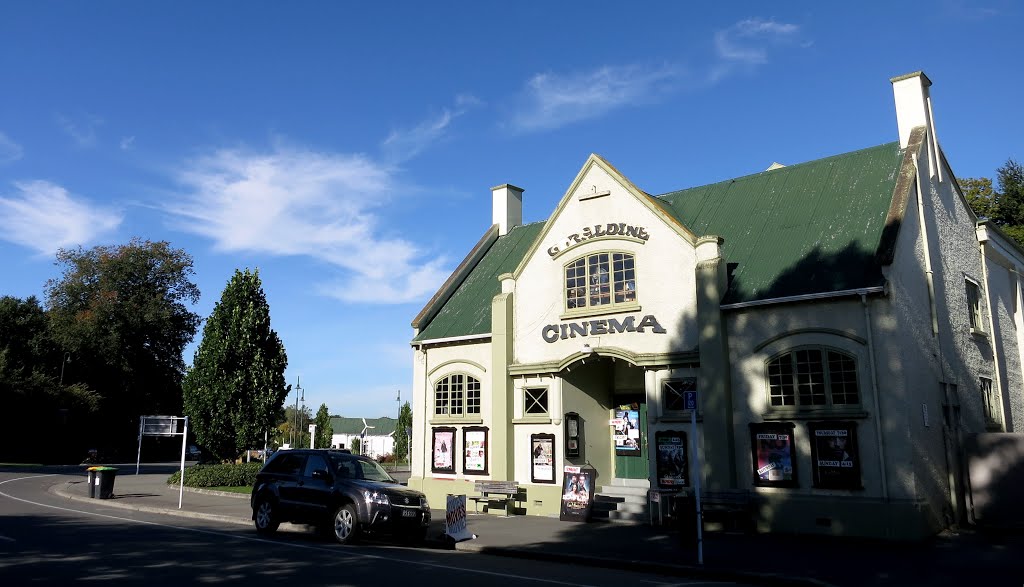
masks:
<path fill-rule="evenodd" d="M 318 286 L 326 295 L 408 302 L 446 277 L 443 259 L 424 259 L 413 243 L 381 234 L 377 210 L 396 186 L 389 168 L 364 156 L 221 150 L 190 162 L 178 180 L 187 191 L 167 207 L 178 228 L 220 251 L 326 261 L 343 276 Z"/>

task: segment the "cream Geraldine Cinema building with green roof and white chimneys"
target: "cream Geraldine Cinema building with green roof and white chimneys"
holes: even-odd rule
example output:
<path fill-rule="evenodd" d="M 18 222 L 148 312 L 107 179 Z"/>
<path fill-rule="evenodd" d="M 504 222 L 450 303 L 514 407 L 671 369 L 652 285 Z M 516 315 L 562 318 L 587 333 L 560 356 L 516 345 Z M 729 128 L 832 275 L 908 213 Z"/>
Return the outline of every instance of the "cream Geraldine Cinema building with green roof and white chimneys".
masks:
<path fill-rule="evenodd" d="M 413 322 L 410 486 L 556 515 L 568 466 L 609 517 L 699 475 L 762 532 L 973 521 L 972 451 L 1024 421 L 1024 253 L 969 209 L 930 80 L 891 81 L 893 142 L 659 196 L 592 155 L 529 224 L 493 188 Z"/>

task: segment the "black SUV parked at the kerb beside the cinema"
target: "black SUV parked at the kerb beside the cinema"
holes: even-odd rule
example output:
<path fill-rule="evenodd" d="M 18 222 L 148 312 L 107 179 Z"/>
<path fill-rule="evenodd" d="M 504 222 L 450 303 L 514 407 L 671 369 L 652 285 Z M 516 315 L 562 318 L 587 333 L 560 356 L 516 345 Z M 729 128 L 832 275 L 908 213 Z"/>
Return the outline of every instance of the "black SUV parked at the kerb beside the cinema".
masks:
<path fill-rule="evenodd" d="M 430 525 L 425 495 L 348 451 L 278 451 L 256 475 L 250 503 L 260 534 L 283 521 L 309 523 L 341 544 L 362 532 L 422 541 Z"/>

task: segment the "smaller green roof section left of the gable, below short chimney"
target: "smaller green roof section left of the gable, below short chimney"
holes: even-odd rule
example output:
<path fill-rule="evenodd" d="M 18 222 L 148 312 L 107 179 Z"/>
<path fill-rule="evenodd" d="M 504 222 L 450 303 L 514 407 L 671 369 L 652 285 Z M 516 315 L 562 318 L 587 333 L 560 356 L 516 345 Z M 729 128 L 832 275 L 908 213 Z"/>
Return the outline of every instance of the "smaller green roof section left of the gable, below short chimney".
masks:
<path fill-rule="evenodd" d="M 490 300 L 502 289 L 498 276 L 515 270 L 542 228 L 544 222 L 535 222 L 515 226 L 507 235 L 499 237 L 413 342 L 489 334 Z"/>

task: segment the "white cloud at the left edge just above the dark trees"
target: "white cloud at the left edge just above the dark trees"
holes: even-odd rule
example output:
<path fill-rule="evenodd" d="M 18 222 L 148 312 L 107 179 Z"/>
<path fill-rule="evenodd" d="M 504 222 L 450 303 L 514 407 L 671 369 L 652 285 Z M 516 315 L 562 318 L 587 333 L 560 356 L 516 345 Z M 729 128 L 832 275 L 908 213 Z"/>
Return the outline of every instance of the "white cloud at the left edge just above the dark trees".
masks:
<path fill-rule="evenodd" d="M 41 254 L 92 243 L 121 224 L 120 212 L 91 206 L 48 181 L 14 187 L 15 194 L 0 197 L 0 239 Z"/>

